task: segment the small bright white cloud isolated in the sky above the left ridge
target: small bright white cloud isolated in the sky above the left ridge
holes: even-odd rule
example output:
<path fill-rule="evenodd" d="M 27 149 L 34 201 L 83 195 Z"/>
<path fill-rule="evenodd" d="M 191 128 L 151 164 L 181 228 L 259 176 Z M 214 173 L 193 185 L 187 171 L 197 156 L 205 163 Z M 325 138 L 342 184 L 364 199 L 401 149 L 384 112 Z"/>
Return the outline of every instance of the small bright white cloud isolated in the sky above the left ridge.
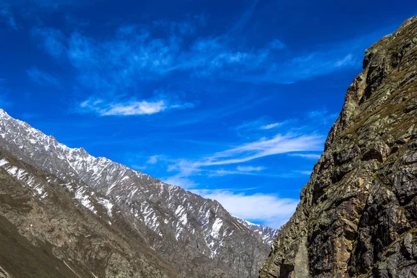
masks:
<path fill-rule="evenodd" d="M 93 112 L 101 116 L 131 116 L 131 115 L 152 115 L 168 109 L 181 109 L 193 107 L 192 104 L 169 104 L 165 100 L 157 101 L 126 101 L 117 103 L 106 103 L 102 99 L 88 99 L 81 102 L 81 112 Z"/>

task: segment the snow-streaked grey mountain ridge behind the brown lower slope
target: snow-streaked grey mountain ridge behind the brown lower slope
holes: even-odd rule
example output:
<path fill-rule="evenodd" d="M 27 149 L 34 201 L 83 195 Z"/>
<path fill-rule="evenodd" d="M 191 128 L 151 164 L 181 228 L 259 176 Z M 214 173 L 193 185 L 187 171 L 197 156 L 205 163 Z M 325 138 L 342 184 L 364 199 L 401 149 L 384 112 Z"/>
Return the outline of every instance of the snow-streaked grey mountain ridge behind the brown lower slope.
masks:
<path fill-rule="evenodd" d="M 184 277 L 257 277 L 277 236 L 275 229 L 231 216 L 215 200 L 90 156 L 83 148 L 69 148 L 2 110 L 0 149 L 50 174 L 48 179 L 109 225 L 123 219 Z M 7 158 L 1 158 L 0 167 L 39 199 L 49 198 L 48 187 L 36 175 Z"/>

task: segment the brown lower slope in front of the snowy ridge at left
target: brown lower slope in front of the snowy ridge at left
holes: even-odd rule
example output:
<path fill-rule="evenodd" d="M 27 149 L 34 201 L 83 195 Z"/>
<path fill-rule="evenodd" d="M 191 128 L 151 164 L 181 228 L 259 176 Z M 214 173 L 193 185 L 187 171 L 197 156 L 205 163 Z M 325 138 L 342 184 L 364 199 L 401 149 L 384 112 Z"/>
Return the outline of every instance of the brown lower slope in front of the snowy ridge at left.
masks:
<path fill-rule="evenodd" d="M 0 162 L 0 267 L 10 277 L 181 276 L 123 218 L 108 224 L 104 210 L 90 212 L 63 181 L 5 151 Z"/>

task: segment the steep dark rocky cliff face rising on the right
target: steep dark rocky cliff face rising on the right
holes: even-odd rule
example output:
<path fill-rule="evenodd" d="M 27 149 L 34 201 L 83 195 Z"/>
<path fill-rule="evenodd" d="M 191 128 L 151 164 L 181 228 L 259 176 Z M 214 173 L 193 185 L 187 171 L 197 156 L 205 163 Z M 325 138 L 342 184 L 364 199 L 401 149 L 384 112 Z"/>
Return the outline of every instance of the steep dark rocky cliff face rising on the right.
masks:
<path fill-rule="evenodd" d="M 366 50 L 260 277 L 417 277 L 417 17 Z"/>

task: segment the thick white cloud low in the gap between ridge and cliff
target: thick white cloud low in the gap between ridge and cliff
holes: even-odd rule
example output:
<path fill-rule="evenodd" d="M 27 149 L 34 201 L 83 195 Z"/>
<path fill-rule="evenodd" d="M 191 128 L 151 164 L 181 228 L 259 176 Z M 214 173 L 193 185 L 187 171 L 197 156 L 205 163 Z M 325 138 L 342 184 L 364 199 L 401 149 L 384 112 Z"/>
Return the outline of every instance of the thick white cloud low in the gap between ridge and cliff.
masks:
<path fill-rule="evenodd" d="M 252 222 L 261 222 L 272 228 L 285 224 L 297 207 L 298 200 L 277 195 L 245 195 L 229 190 L 191 190 L 208 199 L 215 199 L 232 215 Z"/>

